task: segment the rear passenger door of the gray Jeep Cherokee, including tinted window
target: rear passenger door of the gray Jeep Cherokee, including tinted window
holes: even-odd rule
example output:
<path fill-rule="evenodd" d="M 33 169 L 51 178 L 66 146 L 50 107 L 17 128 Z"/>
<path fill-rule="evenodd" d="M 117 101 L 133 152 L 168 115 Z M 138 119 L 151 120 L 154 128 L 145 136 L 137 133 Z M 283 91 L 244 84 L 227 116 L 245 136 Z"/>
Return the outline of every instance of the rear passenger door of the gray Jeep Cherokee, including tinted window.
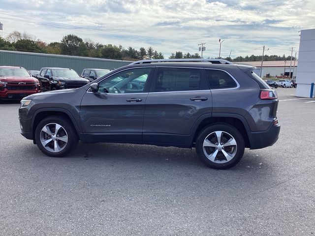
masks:
<path fill-rule="evenodd" d="M 196 120 L 211 112 L 212 95 L 204 69 L 157 67 L 146 100 L 143 140 L 184 144 Z"/>

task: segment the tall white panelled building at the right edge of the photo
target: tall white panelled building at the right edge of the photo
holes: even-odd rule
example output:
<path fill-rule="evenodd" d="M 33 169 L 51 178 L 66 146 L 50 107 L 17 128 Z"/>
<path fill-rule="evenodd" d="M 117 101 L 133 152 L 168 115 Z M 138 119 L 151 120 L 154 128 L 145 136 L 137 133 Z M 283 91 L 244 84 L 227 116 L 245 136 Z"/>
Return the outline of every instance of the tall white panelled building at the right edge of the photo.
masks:
<path fill-rule="evenodd" d="M 314 97 L 315 88 L 312 83 L 315 83 L 315 29 L 301 30 L 298 61 L 296 96 Z"/>

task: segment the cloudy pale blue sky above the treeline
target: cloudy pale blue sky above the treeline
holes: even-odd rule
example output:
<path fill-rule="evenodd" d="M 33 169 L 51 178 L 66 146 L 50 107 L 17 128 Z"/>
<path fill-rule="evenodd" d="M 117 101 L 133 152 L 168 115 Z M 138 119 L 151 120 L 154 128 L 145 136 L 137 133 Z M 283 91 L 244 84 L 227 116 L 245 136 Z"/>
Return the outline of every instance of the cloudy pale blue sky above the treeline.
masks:
<path fill-rule="evenodd" d="M 28 32 L 50 43 L 75 34 L 123 47 L 203 58 L 291 55 L 299 31 L 315 29 L 315 0 L 0 0 L 5 37 Z M 224 41 L 223 41 L 224 40 Z"/>

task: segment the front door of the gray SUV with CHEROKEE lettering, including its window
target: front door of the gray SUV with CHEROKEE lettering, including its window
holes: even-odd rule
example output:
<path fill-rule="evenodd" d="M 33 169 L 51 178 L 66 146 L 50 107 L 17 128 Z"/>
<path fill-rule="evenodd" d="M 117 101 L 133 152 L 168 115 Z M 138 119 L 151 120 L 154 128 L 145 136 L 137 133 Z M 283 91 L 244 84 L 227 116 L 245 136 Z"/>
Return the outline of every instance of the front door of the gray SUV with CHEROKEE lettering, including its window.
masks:
<path fill-rule="evenodd" d="M 126 69 L 98 82 L 98 92 L 86 92 L 80 108 L 86 140 L 142 143 L 151 71 L 150 67 Z M 143 86 L 136 86 L 139 81 Z"/>

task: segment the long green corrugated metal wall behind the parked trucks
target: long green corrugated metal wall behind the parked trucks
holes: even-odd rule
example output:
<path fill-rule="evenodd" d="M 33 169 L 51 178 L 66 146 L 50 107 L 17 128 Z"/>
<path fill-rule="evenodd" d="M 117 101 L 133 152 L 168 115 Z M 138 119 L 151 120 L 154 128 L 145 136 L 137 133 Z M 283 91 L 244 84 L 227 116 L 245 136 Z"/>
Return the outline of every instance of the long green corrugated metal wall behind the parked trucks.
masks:
<path fill-rule="evenodd" d="M 0 50 L 0 65 L 22 66 L 28 70 L 40 70 L 42 67 L 64 67 L 74 69 L 81 74 L 85 68 L 113 70 L 129 63 L 131 61 Z"/>

